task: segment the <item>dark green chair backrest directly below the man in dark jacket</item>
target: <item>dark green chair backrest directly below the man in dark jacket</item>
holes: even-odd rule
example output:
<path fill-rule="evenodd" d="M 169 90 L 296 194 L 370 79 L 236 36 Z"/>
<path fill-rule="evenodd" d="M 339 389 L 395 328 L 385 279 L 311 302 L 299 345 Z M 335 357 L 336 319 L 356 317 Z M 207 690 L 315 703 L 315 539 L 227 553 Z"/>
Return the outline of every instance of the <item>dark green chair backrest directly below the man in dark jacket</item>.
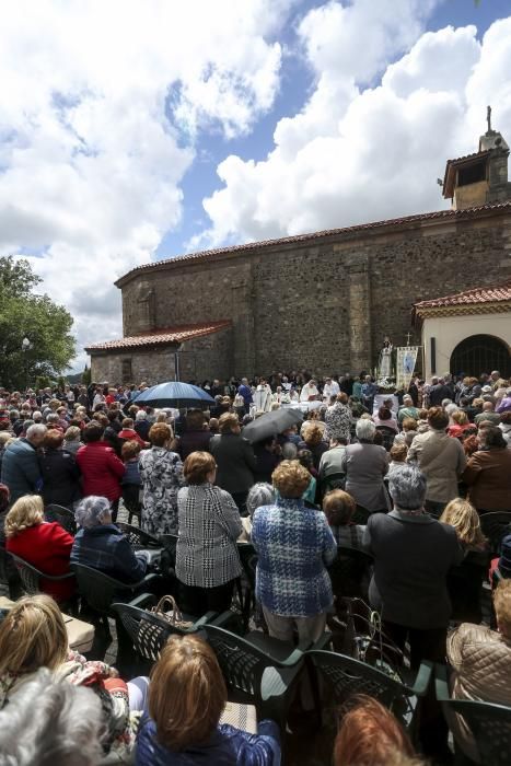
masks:
<path fill-rule="evenodd" d="M 405 726 L 409 724 L 415 693 L 398 680 L 345 654 L 312 649 L 305 655 L 332 689 L 336 706 L 349 706 L 353 696 L 367 694 L 385 705 Z"/>

